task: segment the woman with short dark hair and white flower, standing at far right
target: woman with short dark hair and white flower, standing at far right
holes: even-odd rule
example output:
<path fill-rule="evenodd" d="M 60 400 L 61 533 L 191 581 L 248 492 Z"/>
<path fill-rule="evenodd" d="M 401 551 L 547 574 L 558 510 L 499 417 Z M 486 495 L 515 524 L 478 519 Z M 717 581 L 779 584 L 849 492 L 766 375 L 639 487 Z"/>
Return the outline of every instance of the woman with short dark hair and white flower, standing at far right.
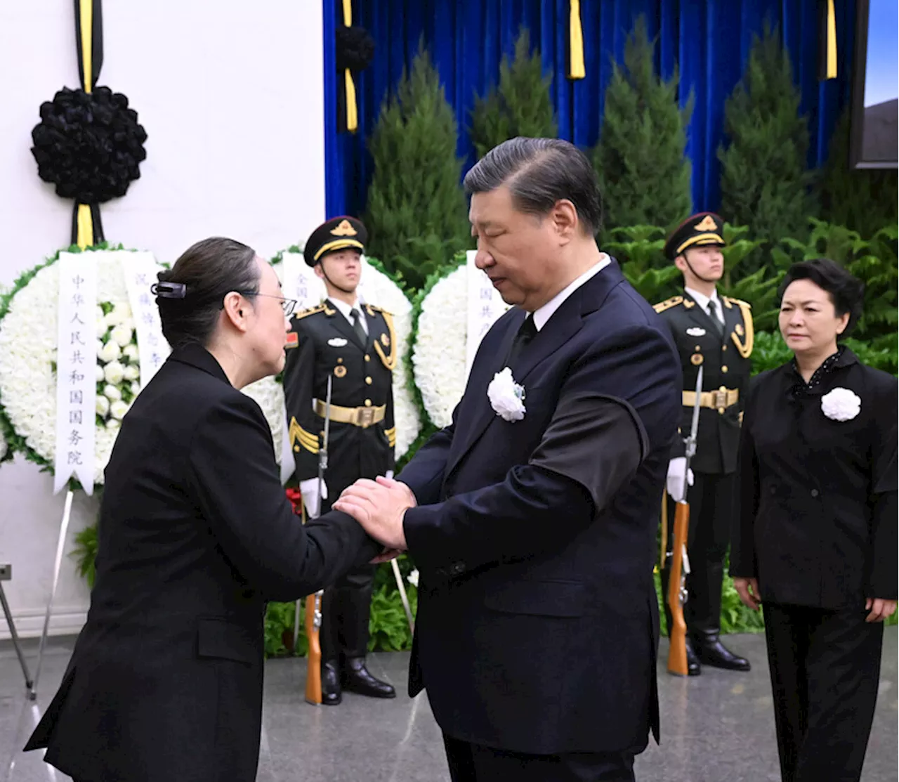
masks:
<path fill-rule="evenodd" d="M 797 263 L 781 296 L 794 359 L 746 404 L 730 573 L 764 606 L 781 777 L 850 782 L 899 597 L 899 379 L 838 344 L 861 309 L 849 272 Z"/>

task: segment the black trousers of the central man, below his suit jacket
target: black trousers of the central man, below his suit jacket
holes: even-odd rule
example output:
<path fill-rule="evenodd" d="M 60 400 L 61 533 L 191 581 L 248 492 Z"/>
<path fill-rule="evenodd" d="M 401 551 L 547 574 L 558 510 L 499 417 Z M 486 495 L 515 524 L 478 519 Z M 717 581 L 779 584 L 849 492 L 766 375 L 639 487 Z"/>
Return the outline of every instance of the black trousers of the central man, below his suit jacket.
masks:
<path fill-rule="evenodd" d="M 529 755 L 443 734 L 452 782 L 634 782 L 633 752 Z"/>

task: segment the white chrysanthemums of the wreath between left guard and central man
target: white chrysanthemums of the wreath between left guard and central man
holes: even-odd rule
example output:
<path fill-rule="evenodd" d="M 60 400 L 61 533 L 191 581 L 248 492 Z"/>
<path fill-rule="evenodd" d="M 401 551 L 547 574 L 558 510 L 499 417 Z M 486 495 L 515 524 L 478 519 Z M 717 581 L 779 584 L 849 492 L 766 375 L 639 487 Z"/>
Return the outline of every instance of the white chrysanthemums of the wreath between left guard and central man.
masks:
<path fill-rule="evenodd" d="M 422 301 L 412 353 L 415 386 L 435 426 L 449 426 L 465 392 L 467 267 L 439 280 Z"/>

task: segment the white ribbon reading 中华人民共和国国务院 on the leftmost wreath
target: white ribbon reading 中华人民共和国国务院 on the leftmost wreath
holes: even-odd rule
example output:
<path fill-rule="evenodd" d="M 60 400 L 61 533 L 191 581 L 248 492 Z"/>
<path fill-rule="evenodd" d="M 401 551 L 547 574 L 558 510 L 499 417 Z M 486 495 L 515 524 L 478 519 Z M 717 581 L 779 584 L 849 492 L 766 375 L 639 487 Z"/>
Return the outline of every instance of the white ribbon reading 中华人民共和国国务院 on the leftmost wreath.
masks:
<path fill-rule="evenodd" d="M 57 427 L 53 492 L 73 475 L 93 493 L 97 279 L 93 253 L 59 254 Z"/>

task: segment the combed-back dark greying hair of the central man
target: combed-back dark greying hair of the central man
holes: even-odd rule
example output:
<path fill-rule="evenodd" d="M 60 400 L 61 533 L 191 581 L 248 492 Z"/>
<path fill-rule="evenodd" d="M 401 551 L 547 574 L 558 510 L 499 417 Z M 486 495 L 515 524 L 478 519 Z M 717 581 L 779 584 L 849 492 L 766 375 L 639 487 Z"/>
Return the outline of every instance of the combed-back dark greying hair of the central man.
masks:
<path fill-rule="evenodd" d="M 465 175 L 467 194 L 509 187 L 515 209 L 548 214 L 567 199 L 592 235 L 602 227 L 602 196 L 587 156 L 561 138 L 510 138 L 491 149 Z"/>

